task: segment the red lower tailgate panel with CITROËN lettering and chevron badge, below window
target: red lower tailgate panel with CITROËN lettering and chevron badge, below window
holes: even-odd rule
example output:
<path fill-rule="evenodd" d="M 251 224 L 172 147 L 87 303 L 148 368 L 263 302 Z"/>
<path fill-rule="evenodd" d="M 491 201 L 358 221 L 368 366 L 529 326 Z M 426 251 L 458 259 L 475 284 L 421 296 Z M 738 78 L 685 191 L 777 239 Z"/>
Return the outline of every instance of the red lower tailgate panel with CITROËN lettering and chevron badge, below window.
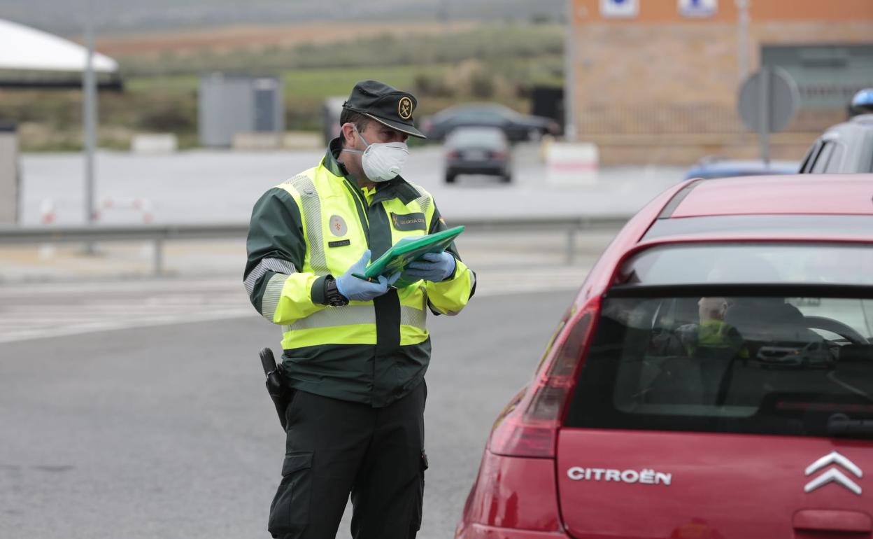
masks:
<path fill-rule="evenodd" d="M 579 428 L 558 440 L 560 512 L 578 539 L 870 537 L 871 470 L 856 441 Z"/>

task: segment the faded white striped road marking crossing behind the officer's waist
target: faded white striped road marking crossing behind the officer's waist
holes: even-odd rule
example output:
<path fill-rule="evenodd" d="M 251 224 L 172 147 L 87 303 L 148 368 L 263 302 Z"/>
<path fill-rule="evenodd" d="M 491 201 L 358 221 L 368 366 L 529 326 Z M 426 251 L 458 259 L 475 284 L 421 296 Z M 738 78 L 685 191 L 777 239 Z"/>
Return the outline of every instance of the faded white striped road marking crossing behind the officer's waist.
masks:
<path fill-rule="evenodd" d="M 584 268 L 575 266 L 478 272 L 476 295 L 567 291 L 569 303 L 585 273 Z M 0 287 L 0 343 L 246 316 L 259 318 L 239 280 L 119 280 Z"/>

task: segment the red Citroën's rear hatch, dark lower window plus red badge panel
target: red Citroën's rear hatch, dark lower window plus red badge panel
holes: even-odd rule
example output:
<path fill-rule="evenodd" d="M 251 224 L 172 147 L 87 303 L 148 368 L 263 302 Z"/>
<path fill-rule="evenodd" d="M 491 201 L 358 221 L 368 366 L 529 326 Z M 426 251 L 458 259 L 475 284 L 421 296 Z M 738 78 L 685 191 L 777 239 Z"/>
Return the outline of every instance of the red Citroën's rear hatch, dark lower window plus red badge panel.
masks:
<path fill-rule="evenodd" d="M 570 535 L 870 537 L 871 314 L 869 286 L 614 287 L 557 441 Z"/>

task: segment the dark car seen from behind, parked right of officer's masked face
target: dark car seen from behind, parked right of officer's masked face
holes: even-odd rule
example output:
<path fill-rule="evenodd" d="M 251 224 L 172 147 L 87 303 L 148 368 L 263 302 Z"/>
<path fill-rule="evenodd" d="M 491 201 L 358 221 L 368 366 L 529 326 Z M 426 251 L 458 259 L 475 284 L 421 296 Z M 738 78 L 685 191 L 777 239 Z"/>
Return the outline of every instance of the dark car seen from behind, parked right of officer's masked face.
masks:
<path fill-rule="evenodd" d="M 445 139 L 445 182 L 454 183 L 461 174 L 500 176 L 512 181 L 509 141 L 500 128 L 457 128 Z"/>

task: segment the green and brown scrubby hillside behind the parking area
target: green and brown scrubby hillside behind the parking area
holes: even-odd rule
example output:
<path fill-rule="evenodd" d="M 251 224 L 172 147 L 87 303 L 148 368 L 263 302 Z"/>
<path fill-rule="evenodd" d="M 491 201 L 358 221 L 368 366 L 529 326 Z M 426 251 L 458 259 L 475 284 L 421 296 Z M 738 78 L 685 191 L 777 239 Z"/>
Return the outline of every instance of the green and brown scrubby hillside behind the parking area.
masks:
<path fill-rule="evenodd" d="M 417 117 L 460 101 L 493 100 L 525 111 L 533 86 L 559 86 L 563 29 L 490 25 L 422 38 L 382 36 L 261 51 L 119 58 L 124 93 L 100 95 L 100 144 L 126 148 L 135 132 L 179 135 L 196 145 L 200 73 L 275 73 L 285 83 L 285 125 L 319 130 L 321 103 L 354 82 L 379 79 L 419 97 Z M 17 121 L 25 151 L 81 144 L 79 92 L 0 92 L 0 117 Z"/>

